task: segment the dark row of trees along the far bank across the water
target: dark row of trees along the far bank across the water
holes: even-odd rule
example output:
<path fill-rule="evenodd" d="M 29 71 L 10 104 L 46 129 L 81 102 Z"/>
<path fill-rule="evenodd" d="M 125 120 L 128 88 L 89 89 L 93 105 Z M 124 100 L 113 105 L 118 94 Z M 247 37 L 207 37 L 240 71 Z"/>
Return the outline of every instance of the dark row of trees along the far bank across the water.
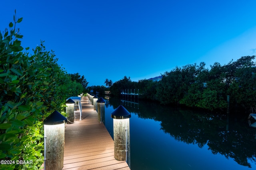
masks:
<path fill-rule="evenodd" d="M 124 76 L 110 89 L 114 96 L 119 96 L 123 89 L 140 89 L 140 98 L 209 110 L 226 109 L 227 96 L 230 96 L 230 109 L 256 112 L 254 59 L 255 56 L 245 56 L 223 66 L 214 63 L 210 69 L 205 68 L 204 62 L 187 64 L 165 72 L 159 82 L 132 82 Z"/>

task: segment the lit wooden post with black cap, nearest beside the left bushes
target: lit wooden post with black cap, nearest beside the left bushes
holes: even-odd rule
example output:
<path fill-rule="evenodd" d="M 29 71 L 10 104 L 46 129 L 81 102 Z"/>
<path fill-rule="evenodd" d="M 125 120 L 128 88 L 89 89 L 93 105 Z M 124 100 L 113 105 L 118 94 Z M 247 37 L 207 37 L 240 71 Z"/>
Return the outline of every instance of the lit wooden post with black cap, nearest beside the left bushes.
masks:
<path fill-rule="evenodd" d="M 44 120 L 44 169 L 61 170 L 64 160 L 66 117 L 58 111 Z"/>

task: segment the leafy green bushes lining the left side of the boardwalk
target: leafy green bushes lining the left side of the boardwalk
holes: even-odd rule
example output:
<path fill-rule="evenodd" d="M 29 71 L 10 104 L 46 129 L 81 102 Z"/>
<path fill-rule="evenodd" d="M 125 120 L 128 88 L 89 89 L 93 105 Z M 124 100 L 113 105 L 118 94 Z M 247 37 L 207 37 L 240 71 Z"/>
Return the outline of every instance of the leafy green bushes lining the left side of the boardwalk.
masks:
<path fill-rule="evenodd" d="M 71 80 L 43 42 L 30 55 L 22 52 L 19 29 L 10 22 L 0 31 L 0 169 L 38 169 L 44 161 L 43 120 L 63 111 L 66 98 L 80 94 L 82 85 Z M 17 160 L 32 164 L 16 164 Z"/>

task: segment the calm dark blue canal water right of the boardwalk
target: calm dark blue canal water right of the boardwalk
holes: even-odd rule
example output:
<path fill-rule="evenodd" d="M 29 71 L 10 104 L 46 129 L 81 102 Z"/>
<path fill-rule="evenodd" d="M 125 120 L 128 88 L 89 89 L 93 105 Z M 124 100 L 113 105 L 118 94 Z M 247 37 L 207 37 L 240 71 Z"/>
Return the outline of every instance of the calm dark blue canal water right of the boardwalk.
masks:
<path fill-rule="evenodd" d="M 110 98 L 104 121 L 112 138 L 110 114 L 120 104 L 131 113 L 132 170 L 256 170 L 256 129 L 249 126 L 247 117 Z"/>

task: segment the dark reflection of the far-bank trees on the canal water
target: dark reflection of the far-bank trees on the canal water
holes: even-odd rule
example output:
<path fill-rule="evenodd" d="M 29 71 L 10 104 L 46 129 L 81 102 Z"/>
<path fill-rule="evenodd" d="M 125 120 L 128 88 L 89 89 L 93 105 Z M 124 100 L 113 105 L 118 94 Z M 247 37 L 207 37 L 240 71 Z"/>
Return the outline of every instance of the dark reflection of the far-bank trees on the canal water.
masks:
<path fill-rule="evenodd" d="M 109 105 L 116 109 L 120 100 L 110 98 Z M 256 163 L 256 131 L 249 126 L 247 117 L 238 119 L 232 113 L 219 115 L 142 101 L 139 108 L 126 107 L 140 118 L 160 121 L 161 129 L 177 141 L 200 148 L 207 145 L 213 154 L 232 158 L 248 168 L 251 168 L 248 160 Z"/>

